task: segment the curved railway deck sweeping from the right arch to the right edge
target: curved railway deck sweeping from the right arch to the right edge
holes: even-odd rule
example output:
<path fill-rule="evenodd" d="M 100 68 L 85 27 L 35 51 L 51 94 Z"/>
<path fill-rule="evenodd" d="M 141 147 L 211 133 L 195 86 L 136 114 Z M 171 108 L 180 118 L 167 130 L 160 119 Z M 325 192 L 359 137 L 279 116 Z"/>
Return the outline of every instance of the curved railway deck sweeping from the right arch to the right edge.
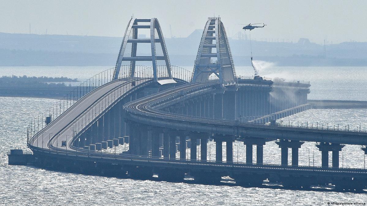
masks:
<path fill-rule="evenodd" d="M 213 86 L 216 84 L 218 82 L 212 81 L 182 85 L 162 91 L 159 95 L 147 96 L 129 102 L 124 105 L 124 108 L 127 111 L 128 118 L 132 121 L 163 128 L 228 135 L 235 134 L 243 137 L 367 145 L 366 132 L 244 123 L 235 126 L 234 121 L 192 117 L 160 110 L 202 93 L 214 91 L 215 88 Z"/>

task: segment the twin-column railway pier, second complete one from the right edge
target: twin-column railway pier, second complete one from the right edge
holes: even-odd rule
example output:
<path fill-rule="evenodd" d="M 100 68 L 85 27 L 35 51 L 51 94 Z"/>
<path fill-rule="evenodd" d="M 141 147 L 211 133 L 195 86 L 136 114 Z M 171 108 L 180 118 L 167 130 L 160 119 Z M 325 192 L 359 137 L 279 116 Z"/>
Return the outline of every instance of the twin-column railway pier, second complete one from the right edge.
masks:
<path fill-rule="evenodd" d="M 279 140 L 276 142 L 281 148 L 281 165 L 288 165 L 288 148 L 292 148 L 292 166 L 298 166 L 298 149 L 304 142 L 298 140 Z"/>

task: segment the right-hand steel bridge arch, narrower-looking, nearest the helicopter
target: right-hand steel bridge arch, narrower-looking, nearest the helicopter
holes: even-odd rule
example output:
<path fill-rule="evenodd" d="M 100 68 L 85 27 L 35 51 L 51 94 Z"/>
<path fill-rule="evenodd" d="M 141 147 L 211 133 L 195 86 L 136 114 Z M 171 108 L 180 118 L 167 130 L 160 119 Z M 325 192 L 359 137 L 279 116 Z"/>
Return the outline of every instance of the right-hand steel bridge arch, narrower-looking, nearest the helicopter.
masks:
<path fill-rule="evenodd" d="M 192 82 L 206 81 L 215 74 L 223 86 L 236 84 L 236 71 L 224 25 L 209 17 L 197 51 Z"/>

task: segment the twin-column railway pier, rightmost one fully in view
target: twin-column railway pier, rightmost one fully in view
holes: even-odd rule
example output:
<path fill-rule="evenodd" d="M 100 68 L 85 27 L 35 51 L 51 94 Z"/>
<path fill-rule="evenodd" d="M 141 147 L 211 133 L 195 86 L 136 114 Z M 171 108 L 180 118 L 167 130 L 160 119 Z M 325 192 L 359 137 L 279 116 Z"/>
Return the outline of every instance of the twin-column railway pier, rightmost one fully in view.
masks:
<path fill-rule="evenodd" d="M 335 143 L 327 143 L 323 142 L 316 145 L 317 148 L 321 151 L 321 166 L 328 167 L 329 166 L 329 151 L 332 151 L 332 164 L 333 168 L 339 168 L 339 151 L 342 151 L 344 145 L 335 144 Z"/>

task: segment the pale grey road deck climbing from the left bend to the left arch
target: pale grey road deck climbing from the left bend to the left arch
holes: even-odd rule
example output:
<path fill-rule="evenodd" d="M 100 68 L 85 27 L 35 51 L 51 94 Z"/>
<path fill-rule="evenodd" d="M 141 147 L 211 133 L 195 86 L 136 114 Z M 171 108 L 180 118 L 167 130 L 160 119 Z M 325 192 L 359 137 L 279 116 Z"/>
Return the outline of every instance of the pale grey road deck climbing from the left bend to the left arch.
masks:
<path fill-rule="evenodd" d="M 149 81 L 149 78 L 124 78 L 109 82 L 83 96 L 59 117 L 30 139 L 30 147 L 55 150 L 75 150 L 71 147 L 73 136 L 99 117 L 113 102 L 125 95 L 134 86 Z M 66 140 L 66 147 L 62 141 Z"/>

